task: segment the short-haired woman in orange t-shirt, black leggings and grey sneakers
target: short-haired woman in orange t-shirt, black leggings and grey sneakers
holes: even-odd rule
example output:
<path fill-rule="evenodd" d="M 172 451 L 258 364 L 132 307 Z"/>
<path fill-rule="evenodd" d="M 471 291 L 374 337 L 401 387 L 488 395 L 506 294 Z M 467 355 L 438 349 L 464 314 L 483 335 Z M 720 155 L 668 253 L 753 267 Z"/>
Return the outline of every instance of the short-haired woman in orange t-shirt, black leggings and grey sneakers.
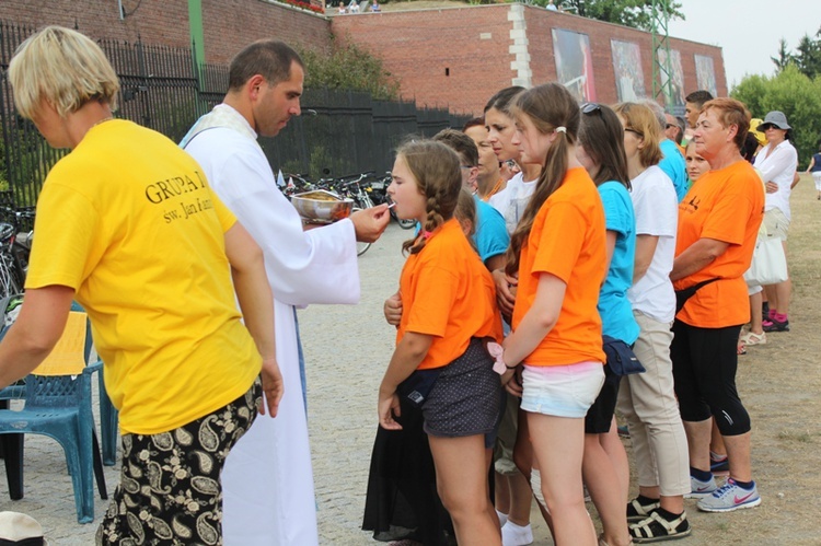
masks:
<path fill-rule="evenodd" d="M 698 509 L 729 512 L 761 503 L 750 462 L 750 416 L 736 390 L 737 342 L 750 320 L 744 271 L 764 210 L 764 190 L 740 149 L 750 113 L 733 98 L 707 102 L 698 115 L 696 151 L 710 171 L 679 205 L 674 288 L 692 295 L 673 323 L 670 356 L 675 394 L 690 446 Z M 710 472 L 713 417 L 724 438 L 730 477 L 716 487 Z"/>

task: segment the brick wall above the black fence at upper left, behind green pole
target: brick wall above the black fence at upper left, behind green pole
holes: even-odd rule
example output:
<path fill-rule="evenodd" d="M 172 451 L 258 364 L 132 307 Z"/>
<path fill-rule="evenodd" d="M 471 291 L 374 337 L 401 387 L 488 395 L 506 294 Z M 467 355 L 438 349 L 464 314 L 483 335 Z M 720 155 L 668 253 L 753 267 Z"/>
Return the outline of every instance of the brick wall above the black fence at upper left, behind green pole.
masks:
<path fill-rule="evenodd" d="M 187 1 L 123 0 L 123 5 L 129 14 L 120 20 L 117 0 L 0 0 L 0 19 L 77 27 L 93 38 L 190 46 Z M 326 18 L 265 0 L 203 0 L 203 32 L 206 61 L 213 63 L 227 63 L 243 46 L 266 37 L 331 47 Z"/>

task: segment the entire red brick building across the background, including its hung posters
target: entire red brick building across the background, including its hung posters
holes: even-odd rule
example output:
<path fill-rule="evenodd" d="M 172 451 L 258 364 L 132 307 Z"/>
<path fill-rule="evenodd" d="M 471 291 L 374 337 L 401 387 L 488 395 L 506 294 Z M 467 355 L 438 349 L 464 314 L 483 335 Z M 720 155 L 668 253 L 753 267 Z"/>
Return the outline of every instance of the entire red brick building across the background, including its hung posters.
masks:
<path fill-rule="evenodd" d="M 602 103 L 654 89 L 650 34 L 518 3 L 327 18 L 273 0 L 0 0 L 0 20 L 174 47 L 201 36 L 210 63 L 227 63 L 263 37 L 327 51 L 333 33 L 383 59 L 405 98 L 461 113 L 481 113 L 490 95 L 512 84 L 558 80 L 580 100 Z M 674 105 L 696 89 L 727 94 L 720 48 L 671 38 L 670 49 Z"/>

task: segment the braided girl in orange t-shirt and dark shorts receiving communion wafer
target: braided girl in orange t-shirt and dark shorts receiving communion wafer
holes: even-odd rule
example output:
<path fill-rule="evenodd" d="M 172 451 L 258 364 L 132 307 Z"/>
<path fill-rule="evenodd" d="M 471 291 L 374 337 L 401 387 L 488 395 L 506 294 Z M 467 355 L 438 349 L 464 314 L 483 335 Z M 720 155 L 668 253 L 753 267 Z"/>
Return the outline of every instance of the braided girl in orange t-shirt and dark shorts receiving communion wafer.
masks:
<path fill-rule="evenodd" d="M 409 142 L 397 151 L 392 175 L 388 193 L 396 214 L 423 228 L 403 245 L 410 255 L 400 279 L 402 318 L 379 390 L 379 423 L 402 429 L 400 396 L 421 407 L 437 490 L 456 541 L 499 545 L 487 468 L 501 383 L 483 340 L 500 340 L 501 321 L 493 278 L 453 218 L 459 158 L 439 142 Z"/>

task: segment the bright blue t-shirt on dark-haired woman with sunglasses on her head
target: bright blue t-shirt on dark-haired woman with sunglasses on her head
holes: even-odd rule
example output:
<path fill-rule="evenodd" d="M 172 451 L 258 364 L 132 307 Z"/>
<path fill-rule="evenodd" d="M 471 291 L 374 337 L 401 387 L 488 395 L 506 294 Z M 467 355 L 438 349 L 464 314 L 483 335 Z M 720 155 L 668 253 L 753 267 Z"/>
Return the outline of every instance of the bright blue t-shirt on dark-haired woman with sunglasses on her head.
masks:
<path fill-rule="evenodd" d="M 633 264 L 636 254 L 636 217 L 629 193 L 620 182 L 605 182 L 599 186 L 604 205 L 604 223 L 608 231 L 616 232 L 616 244 L 604 284 L 599 292 L 599 314 L 602 334 L 633 345 L 638 338 L 638 323 L 627 300 L 627 289 L 633 284 Z"/>

